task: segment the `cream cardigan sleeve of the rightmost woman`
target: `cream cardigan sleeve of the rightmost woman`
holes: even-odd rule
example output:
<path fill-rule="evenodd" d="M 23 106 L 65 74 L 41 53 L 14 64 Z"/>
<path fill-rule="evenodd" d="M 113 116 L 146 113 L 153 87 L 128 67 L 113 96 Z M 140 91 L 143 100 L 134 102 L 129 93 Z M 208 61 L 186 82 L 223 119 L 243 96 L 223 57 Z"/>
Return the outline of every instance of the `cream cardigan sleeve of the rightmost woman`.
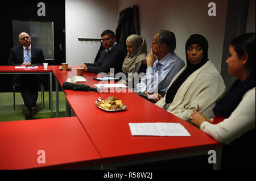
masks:
<path fill-rule="evenodd" d="M 200 128 L 215 140 L 229 144 L 255 128 L 255 87 L 245 93 L 232 114 L 218 124 L 204 121 Z M 255 144 L 255 143 L 253 143 Z"/>

